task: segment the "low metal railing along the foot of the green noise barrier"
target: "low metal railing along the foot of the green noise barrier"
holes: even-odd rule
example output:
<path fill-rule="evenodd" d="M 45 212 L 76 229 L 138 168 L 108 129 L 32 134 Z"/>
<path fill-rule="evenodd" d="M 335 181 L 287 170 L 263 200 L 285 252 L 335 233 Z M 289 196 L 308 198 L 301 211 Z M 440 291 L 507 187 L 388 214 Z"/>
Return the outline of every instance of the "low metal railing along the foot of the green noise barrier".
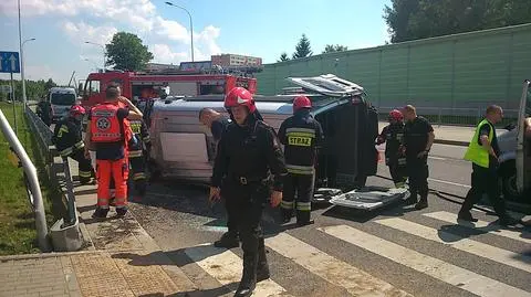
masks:
<path fill-rule="evenodd" d="M 391 110 L 397 107 L 378 107 L 379 120 L 387 120 Z M 427 118 L 435 125 L 476 126 L 485 117 L 485 108 L 445 108 L 445 107 L 419 107 L 417 114 Z M 517 123 L 518 109 L 503 109 L 503 120 L 498 124 L 504 127 Z"/>

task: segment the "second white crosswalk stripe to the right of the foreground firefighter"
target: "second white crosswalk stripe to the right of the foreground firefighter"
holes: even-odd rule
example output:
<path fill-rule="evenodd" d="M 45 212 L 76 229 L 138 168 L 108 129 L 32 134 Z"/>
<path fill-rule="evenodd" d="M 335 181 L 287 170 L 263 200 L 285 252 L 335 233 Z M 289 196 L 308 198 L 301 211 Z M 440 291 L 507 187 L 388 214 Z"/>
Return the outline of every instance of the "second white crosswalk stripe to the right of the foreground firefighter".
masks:
<path fill-rule="evenodd" d="M 452 286 L 482 297 L 529 297 L 529 293 L 465 268 L 420 254 L 393 242 L 362 232 L 347 225 L 317 229 L 377 256 L 429 275 Z"/>

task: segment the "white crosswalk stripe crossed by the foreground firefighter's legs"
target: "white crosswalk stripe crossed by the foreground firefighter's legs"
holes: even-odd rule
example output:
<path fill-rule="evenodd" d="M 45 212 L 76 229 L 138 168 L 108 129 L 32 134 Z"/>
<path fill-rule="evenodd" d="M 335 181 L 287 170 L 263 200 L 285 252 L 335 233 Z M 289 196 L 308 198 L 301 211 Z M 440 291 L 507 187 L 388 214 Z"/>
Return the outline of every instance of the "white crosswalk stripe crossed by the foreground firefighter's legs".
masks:
<path fill-rule="evenodd" d="M 241 258 L 235 253 L 225 248 L 214 247 L 211 244 L 189 247 L 185 250 L 185 253 L 221 285 L 226 286 L 240 282 L 243 264 Z M 285 293 L 283 287 L 271 279 L 267 279 L 257 284 L 252 296 L 266 297 L 282 293 Z"/>

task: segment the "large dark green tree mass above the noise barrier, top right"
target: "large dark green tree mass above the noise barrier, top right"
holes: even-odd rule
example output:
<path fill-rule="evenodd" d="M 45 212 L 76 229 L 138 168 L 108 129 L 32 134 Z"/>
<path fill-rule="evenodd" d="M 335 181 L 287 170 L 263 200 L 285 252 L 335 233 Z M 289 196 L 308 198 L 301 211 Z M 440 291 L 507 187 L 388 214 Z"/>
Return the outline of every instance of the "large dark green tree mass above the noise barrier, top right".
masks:
<path fill-rule="evenodd" d="M 392 42 L 531 22 L 529 0 L 392 0 L 384 19 Z"/>

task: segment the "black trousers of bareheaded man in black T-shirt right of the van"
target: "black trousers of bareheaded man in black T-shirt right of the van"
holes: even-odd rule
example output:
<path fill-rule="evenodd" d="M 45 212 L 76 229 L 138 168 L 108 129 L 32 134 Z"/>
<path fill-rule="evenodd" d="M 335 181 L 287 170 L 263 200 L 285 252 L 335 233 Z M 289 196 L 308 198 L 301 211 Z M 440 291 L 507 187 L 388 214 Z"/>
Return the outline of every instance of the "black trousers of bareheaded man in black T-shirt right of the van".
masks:
<path fill-rule="evenodd" d="M 407 174 L 409 176 L 409 192 L 413 198 L 420 195 L 420 199 L 428 198 L 428 156 L 417 158 L 417 156 L 406 157 Z"/>

